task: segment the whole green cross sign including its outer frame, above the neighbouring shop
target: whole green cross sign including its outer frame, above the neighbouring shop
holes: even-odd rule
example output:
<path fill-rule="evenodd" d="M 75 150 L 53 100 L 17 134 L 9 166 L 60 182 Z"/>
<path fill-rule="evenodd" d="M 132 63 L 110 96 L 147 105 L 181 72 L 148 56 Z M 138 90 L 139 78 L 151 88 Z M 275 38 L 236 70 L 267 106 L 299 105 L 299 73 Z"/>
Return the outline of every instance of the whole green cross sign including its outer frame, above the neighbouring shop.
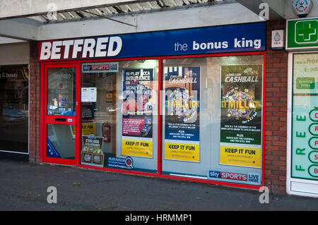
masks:
<path fill-rule="evenodd" d="M 287 20 L 286 49 L 318 49 L 318 18 Z"/>

